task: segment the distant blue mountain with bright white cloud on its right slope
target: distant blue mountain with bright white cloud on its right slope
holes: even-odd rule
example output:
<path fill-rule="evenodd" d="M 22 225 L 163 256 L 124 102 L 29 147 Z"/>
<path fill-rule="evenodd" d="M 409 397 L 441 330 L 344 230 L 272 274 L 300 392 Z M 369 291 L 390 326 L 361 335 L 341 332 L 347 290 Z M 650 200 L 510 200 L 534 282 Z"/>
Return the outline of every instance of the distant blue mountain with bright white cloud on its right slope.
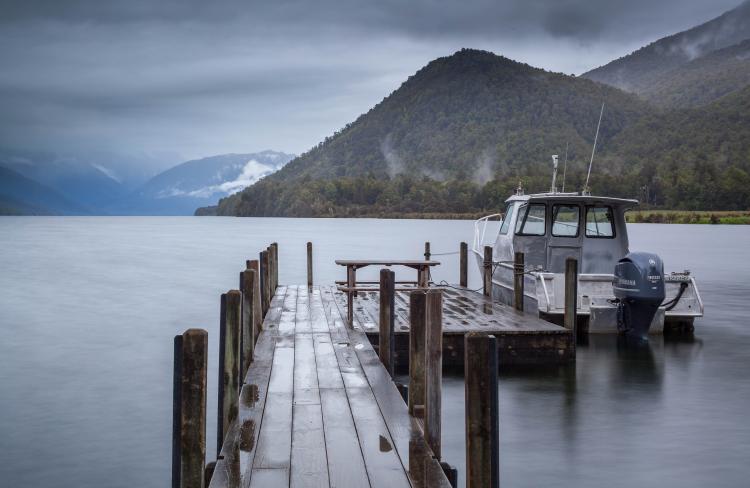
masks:
<path fill-rule="evenodd" d="M 284 167 L 294 157 L 277 151 L 223 154 L 187 161 L 146 182 L 126 198 L 107 206 L 114 214 L 192 215 L 215 205 Z"/>

